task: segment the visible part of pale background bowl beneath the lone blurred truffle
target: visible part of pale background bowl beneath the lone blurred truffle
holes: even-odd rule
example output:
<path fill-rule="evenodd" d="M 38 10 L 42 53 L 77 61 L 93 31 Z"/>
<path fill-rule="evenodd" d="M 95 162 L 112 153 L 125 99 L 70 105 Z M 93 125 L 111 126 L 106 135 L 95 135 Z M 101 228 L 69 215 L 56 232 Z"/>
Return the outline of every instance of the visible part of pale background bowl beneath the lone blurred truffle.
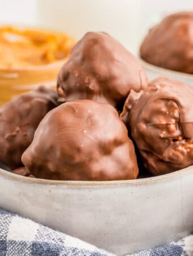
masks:
<path fill-rule="evenodd" d="M 142 60 L 140 57 L 139 57 L 139 60 L 140 60 L 141 66 L 145 69 L 148 75 L 149 81 L 152 79 L 155 79 L 158 76 L 167 76 L 172 79 L 177 79 L 182 82 L 186 82 L 186 84 L 190 84 L 191 86 L 193 86 L 193 75 L 191 74 L 172 71 L 166 68 L 160 68 L 155 65 L 147 63 L 145 60 Z"/>

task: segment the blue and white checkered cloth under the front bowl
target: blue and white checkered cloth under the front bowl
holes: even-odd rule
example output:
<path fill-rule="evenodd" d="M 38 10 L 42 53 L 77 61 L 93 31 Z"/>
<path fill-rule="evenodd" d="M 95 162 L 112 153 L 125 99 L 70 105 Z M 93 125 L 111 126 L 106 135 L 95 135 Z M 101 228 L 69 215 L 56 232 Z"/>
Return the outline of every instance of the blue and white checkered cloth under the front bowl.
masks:
<path fill-rule="evenodd" d="M 0 210 L 0 256 L 113 256 L 89 243 Z M 193 235 L 127 256 L 193 255 Z"/>

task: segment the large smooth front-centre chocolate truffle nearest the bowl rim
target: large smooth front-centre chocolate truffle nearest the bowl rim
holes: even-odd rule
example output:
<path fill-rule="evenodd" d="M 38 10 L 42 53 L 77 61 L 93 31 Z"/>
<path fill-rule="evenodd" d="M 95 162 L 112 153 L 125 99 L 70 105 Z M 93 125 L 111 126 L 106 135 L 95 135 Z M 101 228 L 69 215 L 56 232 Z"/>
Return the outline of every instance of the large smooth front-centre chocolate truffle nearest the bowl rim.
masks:
<path fill-rule="evenodd" d="M 38 178 L 136 179 L 136 154 L 127 128 L 109 104 L 66 102 L 49 112 L 22 156 Z"/>

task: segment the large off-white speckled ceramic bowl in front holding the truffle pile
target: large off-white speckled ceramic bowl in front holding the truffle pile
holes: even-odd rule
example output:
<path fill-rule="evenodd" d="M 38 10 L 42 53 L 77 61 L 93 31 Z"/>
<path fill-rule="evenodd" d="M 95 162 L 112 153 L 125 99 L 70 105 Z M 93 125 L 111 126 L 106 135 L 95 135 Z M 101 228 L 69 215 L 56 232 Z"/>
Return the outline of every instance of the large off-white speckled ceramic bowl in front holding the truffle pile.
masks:
<path fill-rule="evenodd" d="M 193 166 L 124 181 L 52 181 L 0 169 L 0 207 L 125 255 L 193 230 Z"/>

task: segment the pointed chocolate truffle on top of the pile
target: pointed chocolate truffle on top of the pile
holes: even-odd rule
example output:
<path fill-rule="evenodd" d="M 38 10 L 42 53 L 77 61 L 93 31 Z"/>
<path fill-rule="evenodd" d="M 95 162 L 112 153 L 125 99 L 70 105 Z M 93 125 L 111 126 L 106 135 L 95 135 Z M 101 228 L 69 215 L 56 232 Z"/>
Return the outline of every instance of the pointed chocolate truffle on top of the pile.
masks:
<path fill-rule="evenodd" d="M 57 80 L 61 102 L 93 100 L 119 108 L 131 89 L 148 85 L 136 58 L 105 32 L 88 32 L 75 45 Z"/>

